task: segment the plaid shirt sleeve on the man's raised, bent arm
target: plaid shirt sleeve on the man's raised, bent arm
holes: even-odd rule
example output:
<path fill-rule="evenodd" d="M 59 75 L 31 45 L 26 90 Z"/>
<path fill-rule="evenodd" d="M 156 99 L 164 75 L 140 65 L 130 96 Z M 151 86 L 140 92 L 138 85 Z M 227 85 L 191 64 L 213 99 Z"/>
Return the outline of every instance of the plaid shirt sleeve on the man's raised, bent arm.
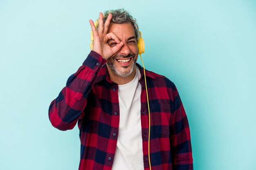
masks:
<path fill-rule="evenodd" d="M 91 51 L 83 65 L 67 79 L 66 86 L 49 106 L 49 120 L 54 127 L 62 131 L 74 128 L 83 116 L 88 94 L 105 62 L 98 53 Z"/>

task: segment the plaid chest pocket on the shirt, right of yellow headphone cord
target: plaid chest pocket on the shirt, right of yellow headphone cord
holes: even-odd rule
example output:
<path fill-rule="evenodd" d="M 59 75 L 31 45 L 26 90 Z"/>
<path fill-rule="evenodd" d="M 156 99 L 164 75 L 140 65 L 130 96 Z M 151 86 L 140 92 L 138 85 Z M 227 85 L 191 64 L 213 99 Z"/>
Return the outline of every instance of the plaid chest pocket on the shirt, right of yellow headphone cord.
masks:
<path fill-rule="evenodd" d="M 171 120 L 172 105 L 166 102 L 153 103 L 150 107 L 150 116 L 153 118 L 155 134 L 157 137 L 169 137 L 169 123 Z"/>

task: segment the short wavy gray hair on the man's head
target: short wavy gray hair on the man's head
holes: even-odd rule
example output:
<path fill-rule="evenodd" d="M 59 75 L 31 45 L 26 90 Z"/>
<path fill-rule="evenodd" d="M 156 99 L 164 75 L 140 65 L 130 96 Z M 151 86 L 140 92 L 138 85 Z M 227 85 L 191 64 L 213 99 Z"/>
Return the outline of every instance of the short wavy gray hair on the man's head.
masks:
<path fill-rule="evenodd" d="M 109 14 L 112 14 L 112 20 L 110 23 L 117 23 L 117 24 L 122 24 L 122 23 L 131 23 L 134 31 L 135 31 L 135 37 L 138 40 L 139 39 L 139 26 L 136 22 L 136 19 L 130 15 L 130 13 L 124 9 L 116 9 L 116 10 L 108 10 L 105 11 L 103 14 L 103 22 L 108 18 Z M 97 26 L 98 29 L 98 26 Z"/>

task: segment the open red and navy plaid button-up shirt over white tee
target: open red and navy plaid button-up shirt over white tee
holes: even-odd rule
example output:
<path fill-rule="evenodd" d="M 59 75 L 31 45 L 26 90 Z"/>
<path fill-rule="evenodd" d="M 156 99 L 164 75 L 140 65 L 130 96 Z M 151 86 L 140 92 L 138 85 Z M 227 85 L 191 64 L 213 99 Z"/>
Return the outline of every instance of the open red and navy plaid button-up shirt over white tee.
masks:
<path fill-rule="evenodd" d="M 49 107 L 49 119 L 60 130 L 78 122 L 81 140 L 79 170 L 111 170 L 119 125 L 118 85 L 110 80 L 106 60 L 91 51 Z M 141 138 L 144 169 L 148 162 L 148 107 L 143 68 L 141 77 Z M 189 123 L 175 85 L 146 71 L 150 105 L 152 170 L 193 170 Z M 136 155 L 134 155 L 136 156 Z"/>

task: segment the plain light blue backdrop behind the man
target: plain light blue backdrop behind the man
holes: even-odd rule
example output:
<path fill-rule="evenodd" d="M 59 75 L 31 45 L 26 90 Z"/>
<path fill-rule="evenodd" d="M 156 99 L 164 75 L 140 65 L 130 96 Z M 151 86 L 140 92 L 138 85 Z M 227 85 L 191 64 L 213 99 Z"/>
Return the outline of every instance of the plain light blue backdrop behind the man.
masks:
<path fill-rule="evenodd" d="M 0 0 L 0 169 L 78 169 L 78 127 L 54 129 L 48 107 L 90 52 L 88 20 L 118 8 L 179 89 L 195 170 L 256 170 L 255 0 Z"/>

